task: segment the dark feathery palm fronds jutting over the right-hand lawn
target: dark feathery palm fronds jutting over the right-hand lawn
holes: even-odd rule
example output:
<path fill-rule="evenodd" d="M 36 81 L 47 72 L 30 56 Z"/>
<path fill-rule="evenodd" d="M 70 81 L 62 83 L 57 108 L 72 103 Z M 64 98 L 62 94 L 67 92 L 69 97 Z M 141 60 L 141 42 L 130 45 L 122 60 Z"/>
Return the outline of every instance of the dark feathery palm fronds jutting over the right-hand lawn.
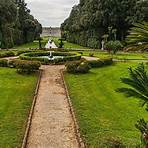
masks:
<path fill-rule="evenodd" d="M 124 93 L 127 97 L 136 97 L 144 101 L 143 105 L 148 103 L 148 75 L 143 63 L 137 68 L 129 68 L 129 77 L 121 78 L 124 84 L 129 88 L 119 88 L 118 92 Z"/>

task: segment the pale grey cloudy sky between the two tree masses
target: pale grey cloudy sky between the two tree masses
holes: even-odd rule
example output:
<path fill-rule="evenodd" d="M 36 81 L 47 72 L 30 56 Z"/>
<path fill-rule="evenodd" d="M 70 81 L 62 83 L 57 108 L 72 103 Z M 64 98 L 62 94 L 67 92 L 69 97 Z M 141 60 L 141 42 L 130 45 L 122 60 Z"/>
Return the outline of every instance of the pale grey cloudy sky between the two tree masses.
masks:
<path fill-rule="evenodd" d="M 79 0 L 26 0 L 31 14 L 45 26 L 58 27 Z"/>

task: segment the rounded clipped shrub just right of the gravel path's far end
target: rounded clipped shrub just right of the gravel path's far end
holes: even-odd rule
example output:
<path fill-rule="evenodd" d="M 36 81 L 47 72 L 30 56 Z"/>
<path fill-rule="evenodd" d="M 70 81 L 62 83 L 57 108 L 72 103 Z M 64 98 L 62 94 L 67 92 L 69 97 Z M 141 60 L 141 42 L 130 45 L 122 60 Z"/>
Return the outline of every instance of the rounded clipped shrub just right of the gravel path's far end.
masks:
<path fill-rule="evenodd" d="M 68 73 L 88 73 L 90 66 L 87 61 L 74 61 L 66 64 Z"/>

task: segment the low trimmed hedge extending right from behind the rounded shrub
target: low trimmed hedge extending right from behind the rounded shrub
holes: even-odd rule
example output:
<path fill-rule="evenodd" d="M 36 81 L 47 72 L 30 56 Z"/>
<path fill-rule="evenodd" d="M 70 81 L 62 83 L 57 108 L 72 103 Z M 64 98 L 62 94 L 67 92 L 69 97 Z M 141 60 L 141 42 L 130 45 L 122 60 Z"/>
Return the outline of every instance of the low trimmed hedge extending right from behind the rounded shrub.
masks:
<path fill-rule="evenodd" d="M 104 59 L 99 59 L 99 60 L 88 61 L 88 63 L 92 68 L 98 68 L 98 67 L 103 67 L 103 66 L 113 64 L 113 59 L 112 58 L 104 58 Z"/>

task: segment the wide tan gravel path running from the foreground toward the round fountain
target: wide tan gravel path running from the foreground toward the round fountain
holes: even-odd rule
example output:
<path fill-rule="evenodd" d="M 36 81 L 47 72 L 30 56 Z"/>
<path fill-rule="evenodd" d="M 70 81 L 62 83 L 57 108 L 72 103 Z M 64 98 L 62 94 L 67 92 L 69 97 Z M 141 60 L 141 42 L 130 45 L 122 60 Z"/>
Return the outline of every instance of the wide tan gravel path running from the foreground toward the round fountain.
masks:
<path fill-rule="evenodd" d="M 27 148 L 78 148 L 60 74 L 63 68 L 42 66 L 43 75 Z"/>

